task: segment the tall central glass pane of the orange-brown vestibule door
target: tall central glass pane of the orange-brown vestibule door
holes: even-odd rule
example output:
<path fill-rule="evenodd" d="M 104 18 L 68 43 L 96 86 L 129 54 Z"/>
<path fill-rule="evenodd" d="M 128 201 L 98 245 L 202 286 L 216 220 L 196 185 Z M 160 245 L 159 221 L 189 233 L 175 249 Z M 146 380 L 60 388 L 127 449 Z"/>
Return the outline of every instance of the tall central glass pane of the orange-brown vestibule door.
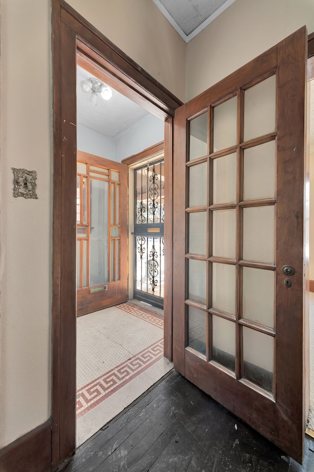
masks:
<path fill-rule="evenodd" d="M 90 286 L 108 282 L 108 183 L 90 180 Z"/>

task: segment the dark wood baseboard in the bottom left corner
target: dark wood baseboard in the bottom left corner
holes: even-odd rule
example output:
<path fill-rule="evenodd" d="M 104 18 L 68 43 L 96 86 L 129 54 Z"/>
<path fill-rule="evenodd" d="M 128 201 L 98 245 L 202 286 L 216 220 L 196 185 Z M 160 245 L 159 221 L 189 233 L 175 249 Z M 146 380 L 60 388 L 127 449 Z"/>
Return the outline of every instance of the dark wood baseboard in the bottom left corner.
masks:
<path fill-rule="evenodd" d="M 0 450 L 0 472 L 51 470 L 51 420 Z"/>

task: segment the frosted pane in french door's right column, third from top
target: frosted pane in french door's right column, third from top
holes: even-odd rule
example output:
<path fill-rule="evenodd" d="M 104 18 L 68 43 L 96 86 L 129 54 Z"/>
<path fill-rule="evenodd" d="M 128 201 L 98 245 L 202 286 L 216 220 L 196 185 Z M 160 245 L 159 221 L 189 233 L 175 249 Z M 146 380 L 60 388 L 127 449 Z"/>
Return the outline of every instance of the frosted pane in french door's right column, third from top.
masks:
<path fill-rule="evenodd" d="M 243 259 L 274 262 L 275 207 L 243 209 Z"/>

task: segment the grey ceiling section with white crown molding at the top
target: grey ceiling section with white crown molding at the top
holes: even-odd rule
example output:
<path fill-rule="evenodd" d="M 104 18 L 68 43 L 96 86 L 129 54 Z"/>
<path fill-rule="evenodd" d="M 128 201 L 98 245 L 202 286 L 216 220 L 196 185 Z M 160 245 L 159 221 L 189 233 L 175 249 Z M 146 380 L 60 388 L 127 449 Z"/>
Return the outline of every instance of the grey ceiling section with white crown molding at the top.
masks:
<path fill-rule="evenodd" d="M 153 0 L 186 43 L 235 0 Z"/>

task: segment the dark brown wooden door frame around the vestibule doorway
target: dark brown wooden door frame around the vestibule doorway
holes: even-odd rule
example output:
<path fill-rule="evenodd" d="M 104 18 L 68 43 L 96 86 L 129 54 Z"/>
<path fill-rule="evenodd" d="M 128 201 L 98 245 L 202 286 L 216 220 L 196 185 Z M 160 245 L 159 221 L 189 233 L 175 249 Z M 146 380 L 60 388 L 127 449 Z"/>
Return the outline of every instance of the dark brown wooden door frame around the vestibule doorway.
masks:
<path fill-rule="evenodd" d="M 165 122 L 167 215 L 172 215 L 172 118 L 182 102 L 64 0 L 52 0 L 53 256 L 52 469 L 76 441 L 76 65 L 106 71 L 109 85 Z M 172 217 L 165 228 L 164 356 L 172 359 Z"/>

